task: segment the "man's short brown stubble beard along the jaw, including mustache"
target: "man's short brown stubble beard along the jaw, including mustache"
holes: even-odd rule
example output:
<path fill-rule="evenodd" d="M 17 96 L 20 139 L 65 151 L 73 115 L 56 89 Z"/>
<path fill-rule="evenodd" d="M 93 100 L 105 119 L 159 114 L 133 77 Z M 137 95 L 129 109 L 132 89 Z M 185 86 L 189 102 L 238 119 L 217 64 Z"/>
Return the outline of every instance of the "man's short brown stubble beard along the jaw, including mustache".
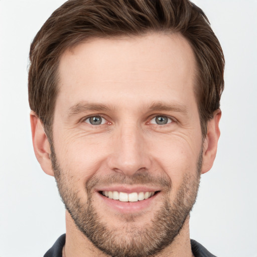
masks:
<path fill-rule="evenodd" d="M 124 218 L 124 227 L 116 230 L 107 228 L 101 218 L 104 214 L 100 215 L 93 206 L 92 188 L 103 180 L 95 177 L 89 179 L 85 183 L 87 199 L 81 199 L 75 189 L 76 185 L 70 185 L 70 181 L 63 175 L 65 173 L 60 169 L 53 148 L 51 159 L 60 196 L 74 223 L 98 249 L 106 255 L 115 257 L 155 256 L 173 242 L 195 203 L 202 167 L 201 153 L 194 176 L 184 175 L 183 183 L 173 202 L 168 197 L 172 184 L 167 177 L 152 178 L 144 172 L 130 179 L 121 175 L 106 178 L 105 182 L 108 183 L 115 181 L 123 184 L 149 184 L 151 181 L 154 184 L 161 184 L 166 189 L 162 206 L 156 211 L 153 220 L 149 220 L 144 227 L 139 227 L 137 217 L 133 214 L 127 215 Z"/>

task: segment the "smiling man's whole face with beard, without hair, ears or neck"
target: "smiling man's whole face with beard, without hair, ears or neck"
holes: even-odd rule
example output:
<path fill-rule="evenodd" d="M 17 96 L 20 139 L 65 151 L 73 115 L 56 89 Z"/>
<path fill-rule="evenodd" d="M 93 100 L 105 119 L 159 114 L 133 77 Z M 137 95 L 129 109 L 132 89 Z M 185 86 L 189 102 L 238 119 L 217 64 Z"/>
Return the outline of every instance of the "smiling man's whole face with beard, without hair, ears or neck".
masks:
<path fill-rule="evenodd" d="M 55 177 L 78 228 L 110 255 L 158 252 L 194 204 L 202 157 L 195 69 L 177 34 L 93 39 L 61 57 Z"/>

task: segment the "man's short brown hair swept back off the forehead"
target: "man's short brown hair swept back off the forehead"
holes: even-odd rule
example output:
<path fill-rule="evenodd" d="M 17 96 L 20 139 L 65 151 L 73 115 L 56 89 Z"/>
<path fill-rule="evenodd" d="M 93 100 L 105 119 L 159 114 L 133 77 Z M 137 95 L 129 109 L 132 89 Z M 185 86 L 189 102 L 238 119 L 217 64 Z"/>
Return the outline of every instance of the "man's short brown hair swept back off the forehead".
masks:
<path fill-rule="evenodd" d="M 180 33 L 197 61 L 196 99 L 202 135 L 220 106 L 224 56 L 203 11 L 188 0 L 69 0 L 46 21 L 30 49 L 29 102 L 50 143 L 62 53 L 90 37 Z"/>

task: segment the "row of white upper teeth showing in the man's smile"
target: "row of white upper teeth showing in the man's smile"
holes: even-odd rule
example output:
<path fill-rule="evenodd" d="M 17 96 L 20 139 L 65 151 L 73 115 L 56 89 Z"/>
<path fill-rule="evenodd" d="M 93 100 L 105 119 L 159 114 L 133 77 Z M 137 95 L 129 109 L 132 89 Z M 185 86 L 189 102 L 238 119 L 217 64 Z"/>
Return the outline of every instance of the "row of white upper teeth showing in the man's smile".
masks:
<path fill-rule="evenodd" d="M 106 197 L 119 200 L 121 202 L 137 202 L 144 199 L 148 199 L 149 197 L 153 196 L 155 192 L 134 192 L 134 193 L 123 193 L 118 191 L 102 191 L 102 194 Z"/>

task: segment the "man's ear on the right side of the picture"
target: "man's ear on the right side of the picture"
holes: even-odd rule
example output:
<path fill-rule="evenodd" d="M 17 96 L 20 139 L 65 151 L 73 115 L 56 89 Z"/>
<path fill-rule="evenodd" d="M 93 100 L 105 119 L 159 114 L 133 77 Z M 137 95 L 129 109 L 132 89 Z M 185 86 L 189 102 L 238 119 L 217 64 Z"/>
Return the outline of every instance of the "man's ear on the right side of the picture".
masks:
<path fill-rule="evenodd" d="M 207 136 L 203 143 L 203 165 L 202 174 L 209 171 L 217 153 L 218 140 L 220 136 L 219 120 L 221 117 L 221 110 L 214 112 L 214 116 L 207 123 Z"/>

